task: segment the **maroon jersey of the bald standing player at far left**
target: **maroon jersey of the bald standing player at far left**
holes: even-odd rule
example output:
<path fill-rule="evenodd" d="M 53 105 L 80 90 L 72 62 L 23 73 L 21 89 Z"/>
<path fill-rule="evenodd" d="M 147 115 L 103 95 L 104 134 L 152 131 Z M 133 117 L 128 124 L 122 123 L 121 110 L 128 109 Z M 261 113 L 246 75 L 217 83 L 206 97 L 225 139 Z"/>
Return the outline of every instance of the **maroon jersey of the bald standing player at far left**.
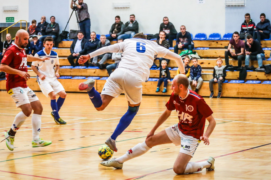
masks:
<path fill-rule="evenodd" d="M 25 54 L 24 49 L 20 49 L 16 44 L 12 44 L 5 51 L 1 63 L 6 64 L 13 69 L 27 72 L 27 55 Z M 25 79 L 18 74 L 6 73 L 6 78 L 7 91 L 16 87 L 27 88 Z"/>

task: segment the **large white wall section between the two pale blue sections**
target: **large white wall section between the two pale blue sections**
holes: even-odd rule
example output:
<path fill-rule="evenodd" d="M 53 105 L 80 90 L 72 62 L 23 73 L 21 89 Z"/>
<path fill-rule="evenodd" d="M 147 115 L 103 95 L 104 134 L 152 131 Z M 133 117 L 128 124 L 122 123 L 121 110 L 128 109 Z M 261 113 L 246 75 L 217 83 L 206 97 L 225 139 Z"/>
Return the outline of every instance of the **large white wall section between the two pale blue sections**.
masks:
<path fill-rule="evenodd" d="M 223 0 L 205 0 L 205 4 L 197 4 L 198 0 L 84 0 L 88 4 L 91 19 L 91 31 L 97 34 L 108 34 L 116 15 L 122 22 L 135 14 L 139 23 L 139 31 L 156 34 L 164 16 L 169 18 L 176 30 L 185 25 L 193 35 L 204 32 L 207 36 L 213 32 L 225 33 L 225 5 Z M 130 2 L 129 9 L 113 9 L 112 2 Z M 72 9 L 69 10 L 70 13 Z M 70 29 L 78 29 L 75 15 L 72 15 Z"/>

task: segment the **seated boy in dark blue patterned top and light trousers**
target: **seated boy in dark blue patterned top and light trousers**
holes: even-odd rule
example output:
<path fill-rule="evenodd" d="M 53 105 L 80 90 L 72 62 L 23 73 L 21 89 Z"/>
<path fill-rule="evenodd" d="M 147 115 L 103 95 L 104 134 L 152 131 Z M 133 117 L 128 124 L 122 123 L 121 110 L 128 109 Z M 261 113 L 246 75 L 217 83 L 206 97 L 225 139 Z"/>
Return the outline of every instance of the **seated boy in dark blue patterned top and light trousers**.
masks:
<path fill-rule="evenodd" d="M 201 78 L 201 66 L 198 65 L 198 58 L 192 58 L 192 63 L 193 65 L 190 67 L 190 76 L 188 78 L 189 80 L 188 89 L 192 90 L 191 88 L 192 82 L 192 85 L 196 87 L 195 92 L 198 93 L 203 83 L 203 79 Z"/>

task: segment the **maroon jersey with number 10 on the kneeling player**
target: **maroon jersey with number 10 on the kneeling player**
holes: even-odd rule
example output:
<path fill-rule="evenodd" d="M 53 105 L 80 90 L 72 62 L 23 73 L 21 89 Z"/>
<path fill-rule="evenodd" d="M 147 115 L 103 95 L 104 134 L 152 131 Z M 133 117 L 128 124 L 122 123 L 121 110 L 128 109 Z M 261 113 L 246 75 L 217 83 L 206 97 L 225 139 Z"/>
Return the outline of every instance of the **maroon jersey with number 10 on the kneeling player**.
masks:
<path fill-rule="evenodd" d="M 203 135 L 206 118 L 213 114 L 202 96 L 191 90 L 184 99 L 172 93 L 166 107 L 169 111 L 176 109 L 180 131 L 196 139 Z"/>

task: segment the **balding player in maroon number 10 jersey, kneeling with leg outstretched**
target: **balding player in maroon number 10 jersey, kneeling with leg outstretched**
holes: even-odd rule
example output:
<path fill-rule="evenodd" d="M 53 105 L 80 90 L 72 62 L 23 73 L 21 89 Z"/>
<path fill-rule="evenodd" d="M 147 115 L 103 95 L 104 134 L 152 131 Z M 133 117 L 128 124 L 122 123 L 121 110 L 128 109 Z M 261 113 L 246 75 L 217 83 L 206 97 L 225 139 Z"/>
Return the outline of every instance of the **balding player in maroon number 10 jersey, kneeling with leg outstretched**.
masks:
<path fill-rule="evenodd" d="M 215 128 L 215 119 L 212 116 L 211 108 L 204 99 L 196 92 L 189 90 L 188 85 L 189 80 L 185 75 L 176 75 L 172 81 L 173 93 L 166 103 L 166 110 L 158 118 L 146 140 L 128 150 L 120 158 L 103 161 L 100 164 L 121 169 L 123 162 L 143 155 L 153 146 L 173 143 L 176 146 L 181 145 L 179 155 L 173 165 L 173 171 L 176 174 L 198 172 L 203 168 L 206 168 L 207 171 L 214 170 L 215 159 L 212 157 L 203 162 L 189 162 L 201 140 L 205 145 L 210 144 L 209 136 Z M 173 110 L 178 113 L 179 123 L 154 135 L 156 129 L 166 121 Z M 209 121 L 209 125 L 204 134 L 206 119 Z"/>

